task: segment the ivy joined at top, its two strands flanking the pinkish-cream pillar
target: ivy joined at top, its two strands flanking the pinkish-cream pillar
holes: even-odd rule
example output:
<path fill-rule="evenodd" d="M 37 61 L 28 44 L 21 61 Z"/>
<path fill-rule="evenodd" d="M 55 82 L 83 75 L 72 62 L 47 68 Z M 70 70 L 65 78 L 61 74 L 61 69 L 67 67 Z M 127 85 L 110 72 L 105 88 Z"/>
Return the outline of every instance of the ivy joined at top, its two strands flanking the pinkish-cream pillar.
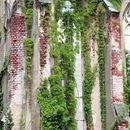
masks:
<path fill-rule="evenodd" d="M 85 9 L 84 9 L 85 10 Z M 104 7 L 102 1 L 89 0 L 87 8 L 84 13 L 86 27 L 86 39 L 83 44 L 83 56 L 84 56 L 84 111 L 86 115 L 86 121 L 88 130 L 93 127 L 92 109 L 91 109 L 91 93 L 95 83 L 96 69 L 92 70 L 90 65 L 90 48 L 89 42 L 93 38 L 98 41 L 98 64 L 99 64 L 99 82 L 100 82 L 100 102 L 101 102 L 101 121 L 102 129 L 106 129 L 106 95 L 105 95 L 105 55 L 104 55 Z M 83 38 L 85 38 L 83 36 Z"/>

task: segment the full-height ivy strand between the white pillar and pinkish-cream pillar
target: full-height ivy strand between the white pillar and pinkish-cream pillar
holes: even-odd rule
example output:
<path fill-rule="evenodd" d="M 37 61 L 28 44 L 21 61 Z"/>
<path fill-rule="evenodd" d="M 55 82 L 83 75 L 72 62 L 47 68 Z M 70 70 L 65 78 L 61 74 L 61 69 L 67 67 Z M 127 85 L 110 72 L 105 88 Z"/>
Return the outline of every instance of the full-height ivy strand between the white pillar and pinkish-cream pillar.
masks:
<path fill-rule="evenodd" d="M 87 7 L 83 9 L 83 31 L 82 31 L 82 51 L 84 57 L 84 82 L 83 82 L 83 101 L 84 101 L 84 112 L 87 122 L 87 130 L 93 128 L 92 118 L 92 101 L 91 94 L 96 79 L 96 66 L 91 67 L 90 59 L 90 40 L 96 39 L 97 27 L 96 27 L 96 11 L 97 2 L 95 0 L 89 0 Z"/>

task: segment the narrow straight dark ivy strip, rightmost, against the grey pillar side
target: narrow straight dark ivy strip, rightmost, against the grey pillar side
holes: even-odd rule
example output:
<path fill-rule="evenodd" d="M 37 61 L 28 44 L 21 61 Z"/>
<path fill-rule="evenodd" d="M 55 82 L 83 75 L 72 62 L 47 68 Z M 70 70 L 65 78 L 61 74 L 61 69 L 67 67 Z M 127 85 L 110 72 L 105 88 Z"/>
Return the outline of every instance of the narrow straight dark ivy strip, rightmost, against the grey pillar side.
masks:
<path fill-rule="evenodd" d="M 106 129 L 106 88 L 105 88 L 105 43 L 104 43 L 104 14 L 99 12 L 99 30 L 98 30 L 98 63 L 100 80 L 100 100 L 101 100 L 101 120 L 102 128 Z"/>

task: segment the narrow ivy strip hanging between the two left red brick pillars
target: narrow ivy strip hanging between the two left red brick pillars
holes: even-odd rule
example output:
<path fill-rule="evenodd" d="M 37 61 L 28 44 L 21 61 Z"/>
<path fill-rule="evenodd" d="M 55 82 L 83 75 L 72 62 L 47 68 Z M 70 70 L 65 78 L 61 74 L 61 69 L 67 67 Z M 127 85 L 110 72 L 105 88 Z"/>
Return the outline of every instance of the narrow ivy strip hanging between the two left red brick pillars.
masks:
<path fill-rule="evenodd" d="M 32 58 L 33 58 L 33 50 L 34 50 L 34 43 L 31 38 L 31 28 L 33 22 L 33 0 L 25 0 L 25 7 L 23 8 L 23 13 L 25 16 L 26 22 L 26 31 L 27 31 L 27 38 L 23 39 L 23 43 L 25 46 L 25 65 L 26 65 L 26 74 L 25 80 L 28 86 L 26 92 L 29 96 L 29 101 L 31 103 L 31 83 L 32 83 Z M 31 104 L 30 104 L 31 105 Z"/>

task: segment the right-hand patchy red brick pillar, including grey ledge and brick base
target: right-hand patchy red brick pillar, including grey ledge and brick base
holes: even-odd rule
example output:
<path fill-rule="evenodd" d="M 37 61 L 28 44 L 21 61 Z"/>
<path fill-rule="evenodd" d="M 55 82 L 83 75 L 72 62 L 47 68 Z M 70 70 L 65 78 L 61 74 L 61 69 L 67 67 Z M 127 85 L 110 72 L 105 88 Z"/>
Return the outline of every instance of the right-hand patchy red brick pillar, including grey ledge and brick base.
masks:
<path fill-rule="evenodd" d="M 111 97 L 115 120 L 124 112 L 120 123 L 116 123 L 116 129 L 128 129 L 128 114 L 124 102 L 124 42 L 121 37 L 119 14 L 112 13 L 109 18 L 109 38 L 111 55 Z M 123 32 L 124 33 L 124 32 Z"/>

